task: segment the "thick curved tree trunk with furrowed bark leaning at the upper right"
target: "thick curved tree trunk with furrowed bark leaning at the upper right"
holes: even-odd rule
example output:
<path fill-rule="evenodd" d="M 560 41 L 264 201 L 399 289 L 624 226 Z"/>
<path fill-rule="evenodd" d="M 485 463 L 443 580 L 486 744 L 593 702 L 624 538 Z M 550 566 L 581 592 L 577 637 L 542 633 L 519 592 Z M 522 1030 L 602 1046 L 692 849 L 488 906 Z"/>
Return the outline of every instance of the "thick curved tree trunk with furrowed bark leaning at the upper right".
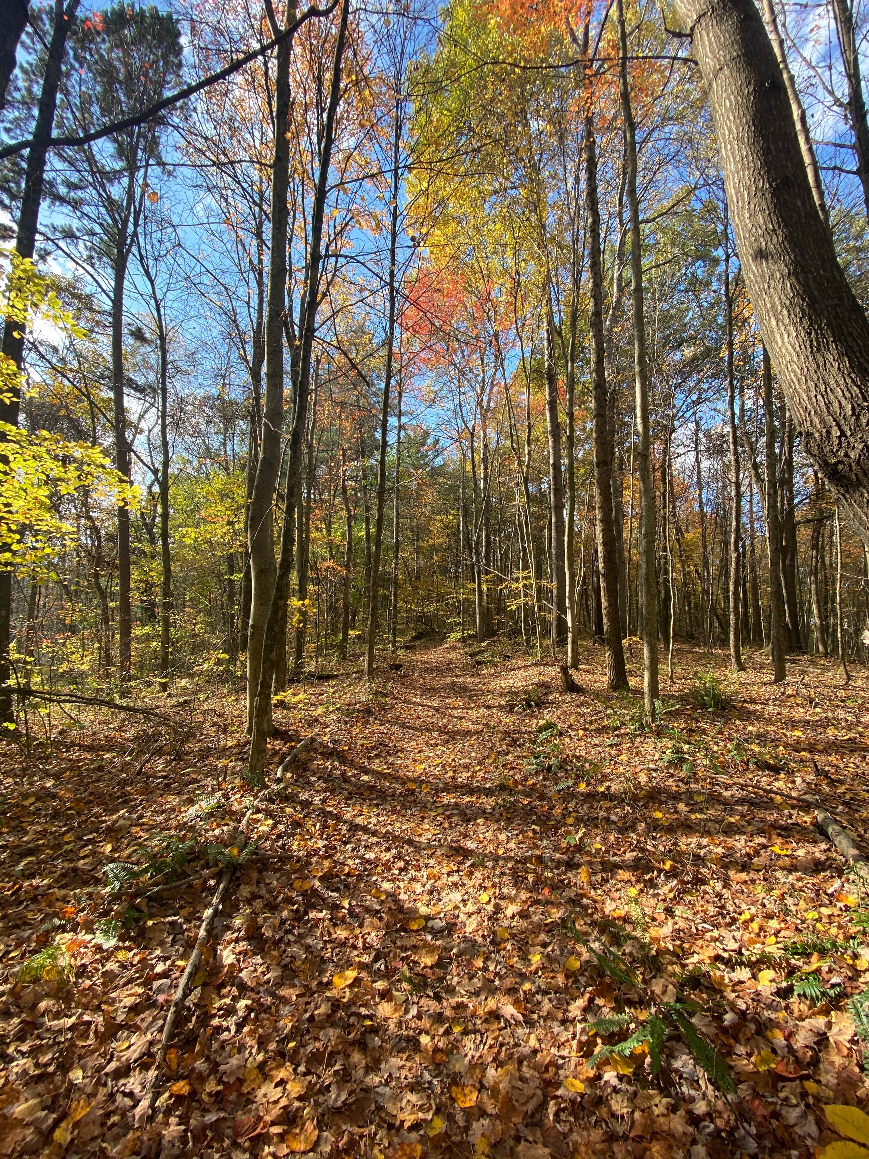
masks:
<path fill-rule="evenodd" d="M 700 64 L 743 274 L 802 433 L 869 542 L 869 320 L 809 184 L 781 68 L 753 0 L 676 0 Z"/>

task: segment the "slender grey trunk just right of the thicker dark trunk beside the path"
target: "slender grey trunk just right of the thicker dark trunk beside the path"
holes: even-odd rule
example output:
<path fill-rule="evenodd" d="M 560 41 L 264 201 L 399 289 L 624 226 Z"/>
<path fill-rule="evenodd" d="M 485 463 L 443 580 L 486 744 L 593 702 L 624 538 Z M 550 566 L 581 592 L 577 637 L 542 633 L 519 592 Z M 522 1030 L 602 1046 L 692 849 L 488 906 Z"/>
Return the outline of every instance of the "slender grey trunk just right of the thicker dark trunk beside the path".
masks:
<path fill-rule="evenodd" d="M 643 707 L 651 720 L 659 699 L 658 688 L 658 590 L 655 575 L 657 511 L 651 466 L 649 423 L 649 362 L 645 347 L 645 302 L 643 296 L 643 235 L 640 225 L 640 198 L 636 175 L 636 126 L 628 86 L 628 38 L 622 0 L 616 0 L 619 21 L 619 93 L 625 125 L 628 168 L 627 197 L 630 218 L 630 282 L 634 315 L 634 387 L 637 431 L 637 473 L 640 475 L 640 598 L 643 605 Z M 699 469 L 699 462 L 698 462 Z M 702 501 L 701 501 L 702 502 Z M 631 493 L 633 503 L 633 493 Z M 706 534 L 703 535 L 706 551 Z"/>

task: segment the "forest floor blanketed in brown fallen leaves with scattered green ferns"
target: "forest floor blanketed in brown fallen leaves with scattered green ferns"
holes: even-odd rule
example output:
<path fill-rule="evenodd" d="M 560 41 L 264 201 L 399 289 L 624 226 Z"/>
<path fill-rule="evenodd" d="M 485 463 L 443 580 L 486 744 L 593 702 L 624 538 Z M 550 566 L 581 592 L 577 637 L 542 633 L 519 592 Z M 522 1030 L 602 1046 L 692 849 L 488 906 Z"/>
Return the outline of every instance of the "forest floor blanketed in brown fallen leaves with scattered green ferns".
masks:
<path fill-rule="evenodd" d="M 188 880 L 209 846 L 218 873 L 236 857 L 254 796 L 242 701 L 56 707 L 50 744 L 6 743 L 0 1154 L 723 1159 L 838 1138 L 825 1105 L 869 1102 L 869 897 L 815 810 L 866 830 L 866 670 L 845 687 L 795 658 L 773 688 L 760 654 L 731 677 L 679 647 L 647 730 L 599 651 L 567 694 L 514 648 L 421 643 L 373 686 L 280 698 L 271 774 L 314 741 L 253 817 L 161 1067 L 217 879 Z"/>

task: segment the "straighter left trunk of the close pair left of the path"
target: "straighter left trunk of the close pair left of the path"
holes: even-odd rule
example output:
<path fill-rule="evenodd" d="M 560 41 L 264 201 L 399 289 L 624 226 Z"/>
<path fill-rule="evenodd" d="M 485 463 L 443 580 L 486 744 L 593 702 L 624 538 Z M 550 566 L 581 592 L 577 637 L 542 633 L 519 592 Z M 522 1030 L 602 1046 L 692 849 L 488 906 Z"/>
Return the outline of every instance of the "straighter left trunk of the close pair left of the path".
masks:
<path fill-rule="evenodd" d="M 278 25 L 266 0 L 272 35 Z M 285 27 L 295 20 L 295 3 L 286 6 Z M 250 618 L 248 621 L 248 705 L 247 731 L 255 731 L 255 706 L 265 654 L 265 627 L 269 620 L 277 564 L 275 562 L 275 487 L 280 471 L 280 432 L 284 423 L 284 311 L 286 307 L 289 227 L 287 190 L 290 187 L 290 38 L 277 48 L 275 63 L 275 152 L 271 170 L 271 245 L 265 304 L 264 356 L 265 399 L 260 432 L 260 458 L 248 508 L 248 551 L 250 554 Z M 285 512 L 294 513 L 286 489 Z M 286 513 L 285 513 L 286 519 Z M 271 681 L 271 673 L 269 675 Z M 271 730 L 271 697 L 262 702 L 261 730 Z M 258 722 L 257 722 L 258 723 Z M 263 757 L 265 739 L 263 737 Z M 253 741 L 251 741 L 253 759 Z"/>

